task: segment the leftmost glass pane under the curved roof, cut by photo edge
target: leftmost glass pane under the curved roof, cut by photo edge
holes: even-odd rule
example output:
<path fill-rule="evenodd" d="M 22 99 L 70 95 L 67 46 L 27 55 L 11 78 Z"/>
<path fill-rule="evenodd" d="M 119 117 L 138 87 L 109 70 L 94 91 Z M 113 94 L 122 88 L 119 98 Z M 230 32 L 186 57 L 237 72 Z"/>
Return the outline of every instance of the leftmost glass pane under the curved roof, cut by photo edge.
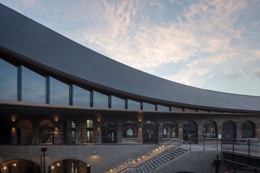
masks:
<path fill-rule="evenodd" d="M 17 67 L 0 58 L 0 100 L 17 101 Z"/>

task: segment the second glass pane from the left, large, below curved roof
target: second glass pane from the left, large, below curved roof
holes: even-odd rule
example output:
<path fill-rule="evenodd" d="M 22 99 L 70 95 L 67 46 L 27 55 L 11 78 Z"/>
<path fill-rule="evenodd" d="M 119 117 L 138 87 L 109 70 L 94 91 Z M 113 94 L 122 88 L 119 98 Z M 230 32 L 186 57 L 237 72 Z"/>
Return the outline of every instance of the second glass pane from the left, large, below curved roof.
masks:
<path fill-rule="evenodd" d="M 24 102 L 45 103 L 45 77 L 21 67 L 22 97 Z"/>

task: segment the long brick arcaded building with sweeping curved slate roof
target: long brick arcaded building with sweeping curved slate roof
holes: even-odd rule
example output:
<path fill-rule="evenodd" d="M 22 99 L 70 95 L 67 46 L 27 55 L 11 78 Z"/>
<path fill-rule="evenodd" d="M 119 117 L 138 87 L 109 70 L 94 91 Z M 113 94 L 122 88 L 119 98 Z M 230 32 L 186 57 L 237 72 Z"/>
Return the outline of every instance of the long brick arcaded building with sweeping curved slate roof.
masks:
<path fill-rule="evenodd" d="M 141 72 L 0 4 L 1 173 L 102 173 L 172 139 L 259 139 L 259 116 L 260 97 Z"/>

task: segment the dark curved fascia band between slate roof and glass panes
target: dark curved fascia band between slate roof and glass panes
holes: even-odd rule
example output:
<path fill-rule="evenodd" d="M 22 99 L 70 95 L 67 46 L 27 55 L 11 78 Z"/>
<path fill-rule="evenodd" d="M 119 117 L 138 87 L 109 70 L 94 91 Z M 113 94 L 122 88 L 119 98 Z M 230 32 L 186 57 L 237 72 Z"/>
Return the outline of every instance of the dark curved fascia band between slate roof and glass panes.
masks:
<path fill-rule="evenodd" d="M 27 57 L 24 57 L 20 54 L 17 54 L 11 50 L 8 50 L 4 47 L 1 47 L 0 46 L 0 52 L 1 53 L 4 53 L 4 54 L 7 54 L 9 56 L 12 56 L 20 61 L 24 61 L 30 65 L 33 65 L 35 67 L 38 67 L 38 68 L 41 68 L 43 70 L 46 70 L 48 72 L 51 72 L 53 74 L 56 74 L 58 76 L 62 76 L 66 79 L 69 79 L 71 81 L 76 81 L 78 83 L 81 83 L 81 84 L 84 84 L 84 85 L 88 85 L 88 86 L 91 86 L 93 88 L 97 88 L 97 89 L 100 89 L 100 90 L 103 90 L 103 91 L 106 91 L 106 92 L 111 92 L 111 93 L 116 93 L 118 95 L 123 95 L 123 96 L 127 96 L 129 97 L 129 99 L 136 99 L 136 100 L 144 100 L 144 101 L 148 101 L 148 102 L 156 102 L 156 103 L 159 103 L 159 104 L 162 104 L 162 105 L 170 105 L 170 106 L 176 106 L 176 107 L 185 107 L 185 108 L 188 108 L 188 109 L 202 109 L 202 110 L 210 110 L 210 111 L 220 111 L 220 112 L 239 112 L 239 113 L 260 113 L 260 111 L 254 111 L 254 110 L 239 110 L 239 109 L 227 109 L 227 108 L 216 108 L 216 107 L 205 107 L 205 106 L 199 106 L 199 105 L 190 105 L 190 104 L 185 104 L 185 103 L 177 103 L 177 102 L 170 102 L 170 101 L 165 101 L 165 100 L 160 100 L 160 99 L 154 99 L 154 98 L 150 98 L 150 97 L 144 97 L 144 96 L 139 96 L 139 95 L 136 95 L 136 94 L 132 94 L 132 93 L 127 93 L 127 92 L 123 92 L 123 91 L 119 91 L 119 90 L 115 90 L 113 88 L 109 88 L 109 87 L 106 87 L 106 86 L 102 86 L 102 85 L 99 85 L 99 84 L 95 84 L 95 83 L 92 83 L 92 82 L 89 82 L 89 81 L 86 81 L 84 79 L 80 79 L 80 78 L 77 78 L 75 76 L 72 76 L 72 75 L 69 75 L 67 73 L 64 73 L 64 72 L 61 72 L 61 71 L 58 71 L 56 69 L 53 69 L 53 68 L 50 68 L 44 64 L 40 64 L 36 61 L 33 61 Z"/>

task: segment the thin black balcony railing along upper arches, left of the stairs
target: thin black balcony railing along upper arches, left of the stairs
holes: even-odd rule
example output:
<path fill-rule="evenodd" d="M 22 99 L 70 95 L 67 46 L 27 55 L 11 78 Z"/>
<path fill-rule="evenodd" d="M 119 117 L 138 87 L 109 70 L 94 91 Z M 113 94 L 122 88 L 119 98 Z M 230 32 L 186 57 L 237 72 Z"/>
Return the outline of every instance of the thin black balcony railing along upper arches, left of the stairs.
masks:
<path fill-rule="evenodd" d="M 0 138 L 0 145 L 162 145 L 178 139 L 164 137 L 40 137 Z"/>

